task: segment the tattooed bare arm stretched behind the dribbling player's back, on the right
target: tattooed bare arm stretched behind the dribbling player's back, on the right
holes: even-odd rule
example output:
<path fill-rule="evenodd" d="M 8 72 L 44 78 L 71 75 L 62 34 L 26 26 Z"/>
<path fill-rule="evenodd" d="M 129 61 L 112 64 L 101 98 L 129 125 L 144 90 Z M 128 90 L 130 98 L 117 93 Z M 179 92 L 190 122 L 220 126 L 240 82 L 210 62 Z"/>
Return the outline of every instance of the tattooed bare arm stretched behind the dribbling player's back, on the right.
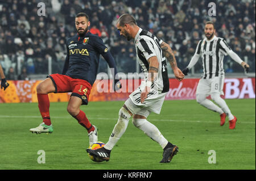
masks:
<path fill-rule="evenodd" d="M 172 52 L 170 45 L 168 45 L 163 41 L 160 44 L 160 46 L 161 46 L 161 49 L 163 50 L 164 57 L 167 58 L 167 61 L 170 63 L 172 70 L 174 70 L 174 75 L 176 79 L 178 79 L 178 81 L 182 81 L 182 79 L 184 78 L 184 74 L 177 67 L 176 58 L 174 56 L 174 52 Z"/>

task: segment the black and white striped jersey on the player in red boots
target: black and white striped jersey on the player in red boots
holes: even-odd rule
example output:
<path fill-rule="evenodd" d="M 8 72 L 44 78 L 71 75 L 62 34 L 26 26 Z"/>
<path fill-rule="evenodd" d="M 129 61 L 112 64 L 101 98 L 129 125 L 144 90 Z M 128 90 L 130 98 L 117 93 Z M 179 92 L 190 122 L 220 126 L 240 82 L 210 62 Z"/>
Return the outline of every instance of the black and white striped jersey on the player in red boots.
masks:
<path fill-rule="evenodd" d="M 224 39 L 214 36 L 212 40 L 200 40 L 194 57 L 203 60 L 203 78 L 213 78 L 224 75 L 223 58 L 231 49 Z M 191 60 L 192 61 L 192 60 Z M 191 65 L 189 65 L 191 66 Z M 191 67 L 188 68 L 190 69 Z"/>

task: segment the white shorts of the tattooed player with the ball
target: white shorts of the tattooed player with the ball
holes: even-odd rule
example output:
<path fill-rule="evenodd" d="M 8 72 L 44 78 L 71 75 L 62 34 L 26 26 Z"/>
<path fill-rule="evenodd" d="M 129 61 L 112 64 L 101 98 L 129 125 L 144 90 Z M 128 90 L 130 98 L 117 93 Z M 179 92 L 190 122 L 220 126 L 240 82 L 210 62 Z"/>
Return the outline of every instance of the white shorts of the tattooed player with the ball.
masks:
<path fill-rule="evenodd" d="M 148 93 L 147 99 L 141 103 L 141 89 L 139 87 L 129 95 L 129 99 L 126 100 L 125 106 L 131 113 L 133 113 L 133 115 L 137 114 L 147 117 L 150 112 L 159 114 L 166 94 L 167 92 L 157 93 L 154 90 L 151 90 Z"/>

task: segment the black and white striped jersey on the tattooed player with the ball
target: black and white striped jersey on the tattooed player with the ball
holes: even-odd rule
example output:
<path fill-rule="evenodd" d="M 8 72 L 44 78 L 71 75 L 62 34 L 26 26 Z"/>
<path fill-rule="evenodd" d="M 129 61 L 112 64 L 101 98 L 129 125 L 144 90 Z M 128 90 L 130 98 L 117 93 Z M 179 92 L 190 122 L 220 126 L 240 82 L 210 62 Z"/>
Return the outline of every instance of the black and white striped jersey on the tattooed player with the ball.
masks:
<path fill-rule="evenodd" d="M 168 92 L 170 89 L 166 58 L 163 56 L 162 49 L 160 47 L 162 42 L 163 41 L 158 37 L 152 35 L 151 32 L 142 30 L 142 28 L 139 28 L 139 31 L 134 39 L 139 64 L 141 65 L 145 74 L 145 79 L 147 79 L 148 75 L 148 58 L 152 56 L 156 56 L 158 58 L 159 70 L 158 77 L 156 81 L 154 81 L 154 87 L 157 87 L 158 92 L 160 93 Z"/>

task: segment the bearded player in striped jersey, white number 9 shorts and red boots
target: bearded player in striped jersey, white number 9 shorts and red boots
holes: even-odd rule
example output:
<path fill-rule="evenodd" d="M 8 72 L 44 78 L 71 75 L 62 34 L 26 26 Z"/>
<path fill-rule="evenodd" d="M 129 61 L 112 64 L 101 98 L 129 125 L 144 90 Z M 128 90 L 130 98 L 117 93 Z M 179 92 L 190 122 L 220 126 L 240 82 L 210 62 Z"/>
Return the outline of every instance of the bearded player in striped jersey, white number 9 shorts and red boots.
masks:
<path fill-rule="evenodd" d="M 237 118 L 232 115 L 225 100 L 220 96 L 224 95 L 222 90 L 225 78 L 223 58 L 224 55 L 228 54 L 234 61 L 245 68 L 246 71 L 248 71 L 249 65 L 242 61 L 241 58 L 229 48 L 224 39 L 215 36 L 215 32 L 214 24 L 212 22 L 207 22 L 204 28 L 206 38 L 199 41 L 196 47 L 196 52 L 189 62 L 189 65 L 182 71 L 187 75 L 189 69 L 191 69 L 199 58 L 202 57 L 203 75 L 197 85 L 196 101 L 209 110 L 218 112 L 221 117 L 221 126 L 224 125 L 226 116 L 228 116 L 229 129 L 234 129 L 236 127 Z M 210 95 L 212 100 L 214 100 L 220 107 L 208 100 L 208 95 Z"/>

